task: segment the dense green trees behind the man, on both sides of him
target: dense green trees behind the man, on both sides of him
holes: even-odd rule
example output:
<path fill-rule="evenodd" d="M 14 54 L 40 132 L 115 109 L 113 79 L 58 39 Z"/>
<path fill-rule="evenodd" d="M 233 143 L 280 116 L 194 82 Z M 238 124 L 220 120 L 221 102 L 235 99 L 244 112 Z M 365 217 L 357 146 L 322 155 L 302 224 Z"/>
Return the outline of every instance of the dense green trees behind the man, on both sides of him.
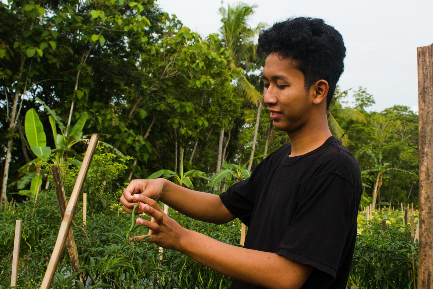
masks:
<path fill-rule="evenodd" d="M 289 142 L 261 106 L 256 121 L 263 59 L 251 39 L 264 24 L 248 26 L 254 8 L 222 8 L 219 34 L 203 38 L 152 0 L 0 3 L 0 154 L 2 175 L 10 157 L 7 198 L 30 185 L 19 168 L 30 163 L 27 171 L 38 169 L 24 130 L 31 108 L 53 154 L 61 144 L 55 135 L 63 137 L 62 159 L 81 158 L 83 140 L 92 133 L 102 134 L 105 149 L 119 158 L 130 156 L 120 180 L 159 169 L 178 172 L 182 150 L 185 171 L 210 176 L 224 161 L 245 164 L 256 123 L 254 156 Z M 228 28 L 236 19 L 242 31 L 234 33 Z M 391 104 L 367 111 L 374 97 L 364 88 L 354 92 L 352 105 L 347 95 L 337 89 L 330 127 L 337 138 L 346 133 L 345 144 L 364 171 L 365 194 L 373 198 L 376 191 L 377 203 L 416 202 L 417 114 Z M 68 134 L 84 114 L 82 135 L 72 141 Z"/>

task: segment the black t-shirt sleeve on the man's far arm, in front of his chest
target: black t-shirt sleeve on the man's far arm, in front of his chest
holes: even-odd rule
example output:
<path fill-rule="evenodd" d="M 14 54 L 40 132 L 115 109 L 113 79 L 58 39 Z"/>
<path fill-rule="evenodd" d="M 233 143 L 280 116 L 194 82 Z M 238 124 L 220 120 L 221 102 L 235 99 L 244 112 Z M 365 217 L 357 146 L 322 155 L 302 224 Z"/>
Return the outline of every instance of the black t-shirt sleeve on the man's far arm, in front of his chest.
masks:
<path fill-rule="evenodd" d="M 220 194 L 220 199 L 227 210 L 247 226 L 249 226 L 255 198 L 259 191 L 260 178 L 268 157 L 253 169 L 249 178 L 231 185 L 226 192 Z"/>

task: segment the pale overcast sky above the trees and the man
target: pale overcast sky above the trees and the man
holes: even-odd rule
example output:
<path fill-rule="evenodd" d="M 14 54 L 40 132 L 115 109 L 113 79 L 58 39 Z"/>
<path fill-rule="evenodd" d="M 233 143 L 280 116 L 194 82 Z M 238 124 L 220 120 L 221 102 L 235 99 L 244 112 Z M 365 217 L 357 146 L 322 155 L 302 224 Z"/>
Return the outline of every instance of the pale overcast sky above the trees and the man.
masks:
<path fill-rule="evenodd" d="M 339 85 L 362 86 L 380 111 L 394 104 L 418 110 L 417 47 L 433 43 L 433 0 L 245 0 L 258 8 L 250 21 L 272 25 L 292 16 L 322 18 L 342 35 L 347 53 Z M 184 26 L 207 36 L 221 26 L 220 0 L 157 0 Z M 236 1 L 224 1 L 233 4 Z"/>

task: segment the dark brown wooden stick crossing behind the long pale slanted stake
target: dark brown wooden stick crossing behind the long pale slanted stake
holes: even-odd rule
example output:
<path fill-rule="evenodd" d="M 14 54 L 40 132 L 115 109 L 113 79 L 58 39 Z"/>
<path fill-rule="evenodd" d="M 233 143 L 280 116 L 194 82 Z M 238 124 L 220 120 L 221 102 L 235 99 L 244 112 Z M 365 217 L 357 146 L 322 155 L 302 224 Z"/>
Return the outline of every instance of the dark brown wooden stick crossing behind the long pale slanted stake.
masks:
<path fill-rule="evenodd" d="M 66 210 L 66 195 L 65 188 L 63 187 L 63 181 L 61 179 L 60 167 L 54 165 L 51 167 L 51 173 L 53 176 L 54 188 L 57 195 L 58 209 L 60 211 L 60 217 L 63 219 Z M 78 259 L 77 245 L 75 245 L 74 233 L 72 228 L 69 228 L 68 238 L 66 239 L 66 248 L 68 248 L 69 259 L 71 260 L 72 272 L 81 272 L 80 261 Z M 81 274 L 78 275 L 80 281 L 84 284 L 84 279 Z"/>

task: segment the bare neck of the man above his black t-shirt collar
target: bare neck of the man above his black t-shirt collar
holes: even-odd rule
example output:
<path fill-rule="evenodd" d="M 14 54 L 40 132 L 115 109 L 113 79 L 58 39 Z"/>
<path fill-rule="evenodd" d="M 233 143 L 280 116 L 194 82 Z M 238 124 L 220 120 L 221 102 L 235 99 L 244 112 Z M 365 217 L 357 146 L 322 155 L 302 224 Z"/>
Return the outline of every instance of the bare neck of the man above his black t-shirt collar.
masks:
<path fill-rule="evenodd" d="M 288 133 L 291 142 L 291 153 L 289 156 L 301 156 L 321 146 L 332 133 L 328 122 L 318 121 Z"/>

